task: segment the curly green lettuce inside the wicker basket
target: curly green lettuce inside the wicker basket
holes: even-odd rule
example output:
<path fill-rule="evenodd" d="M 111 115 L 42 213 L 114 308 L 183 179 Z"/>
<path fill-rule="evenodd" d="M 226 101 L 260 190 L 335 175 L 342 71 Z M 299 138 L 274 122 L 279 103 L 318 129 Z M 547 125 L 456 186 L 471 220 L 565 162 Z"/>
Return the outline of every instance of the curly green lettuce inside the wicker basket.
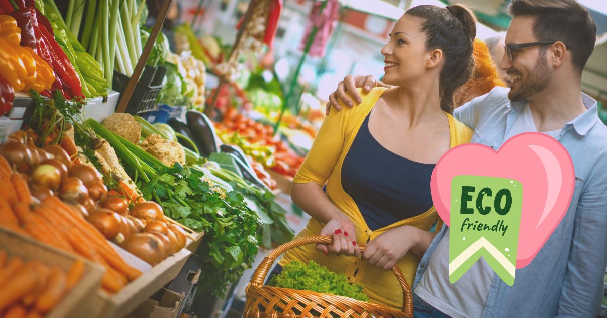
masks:
<path fill-rule="evenodd" d="M 270 286 L 292 288 L 304 291 L 323 292 L 337 296 L 350 297 L 362 302 L 368 302 L 367 294 L 362 292 L 362 285 L 350 283 L 344 274 L 331 272 L 314 261 L 304 264 L 291 261 L 282 269 L 279 275 L 272 277 Z"/>

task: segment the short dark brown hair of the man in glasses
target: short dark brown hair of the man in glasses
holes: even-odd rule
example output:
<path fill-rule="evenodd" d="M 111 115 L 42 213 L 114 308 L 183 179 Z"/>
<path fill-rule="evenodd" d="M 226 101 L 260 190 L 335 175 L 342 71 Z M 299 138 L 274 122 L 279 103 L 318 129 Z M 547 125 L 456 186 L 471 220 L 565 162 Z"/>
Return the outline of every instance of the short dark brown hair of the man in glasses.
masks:
<path fill-rule="evenodd" d="M 597 26 L 588 10 L 575 0 L 513 0 L 513 16 L 535 17 L 537 41 L 561 41 L 571 52 L 573 66 L 582 73 L 594 50 Z M 541 47 L 545 52 L 548 47 Z"/>

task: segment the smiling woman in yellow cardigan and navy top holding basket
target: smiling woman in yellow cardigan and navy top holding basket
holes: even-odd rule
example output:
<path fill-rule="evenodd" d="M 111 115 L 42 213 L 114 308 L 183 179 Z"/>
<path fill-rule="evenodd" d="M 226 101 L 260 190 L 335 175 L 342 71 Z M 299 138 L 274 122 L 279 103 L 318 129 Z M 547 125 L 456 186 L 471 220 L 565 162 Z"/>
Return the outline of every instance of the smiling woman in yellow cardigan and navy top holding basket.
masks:
<path fill-rule="evenodd" d="M 331 112 L 293 180 L 293 202 L 312 216 L 297 237 L 332 235 L 333 244 L 291 249 L 279 265 L 314 260 L 362 283 L 371 302 L 402 308 L 386 270 L 396 265 L 412 283 L 432 241 L 416 232 L 442 225 L 430 176 L 439 157 L 472 134 L 450 112 L 453 92 L 472 73 L 475 36 L 464 5 L 420 5 L 396 22 L 382 54 L 384 81 L 398 87 L 375 88 L 358 107 Z M 358 244 L 367 244 L 362 255 Z"/>

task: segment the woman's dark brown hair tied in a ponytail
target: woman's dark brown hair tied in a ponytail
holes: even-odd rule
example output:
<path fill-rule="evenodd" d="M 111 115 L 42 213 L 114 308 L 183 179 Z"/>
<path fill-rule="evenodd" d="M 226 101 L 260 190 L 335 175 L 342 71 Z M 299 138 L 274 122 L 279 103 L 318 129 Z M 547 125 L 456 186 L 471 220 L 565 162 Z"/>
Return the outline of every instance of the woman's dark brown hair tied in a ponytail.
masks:
<path fill-rule="evenodd" d="M 418 5 L 406 15 L 424 20 L 421 31 L 426 33 L 426 49 L 441 49 L 445 63 L 439 79 L 441 109 L 453 112 L 453 92 L 466 83 L 474 69 L 474 38 L 476 17 L 463 4 Z"/>

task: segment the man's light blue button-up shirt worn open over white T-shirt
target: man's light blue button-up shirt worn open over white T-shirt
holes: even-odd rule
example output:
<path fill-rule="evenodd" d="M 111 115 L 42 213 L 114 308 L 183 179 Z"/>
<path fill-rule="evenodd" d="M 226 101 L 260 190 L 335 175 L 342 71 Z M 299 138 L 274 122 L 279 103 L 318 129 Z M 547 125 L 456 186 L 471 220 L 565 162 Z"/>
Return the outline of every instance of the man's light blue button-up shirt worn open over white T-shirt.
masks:
<path fill-rule="evenodd" d="M 470 142 L 497 150 L 506 141 L 525 105 L 510 103 L 508 91 L 494 88 L 455 110 L 453 116 L 474 130 Z M 574 164 L 575 190 L 569 209 L 534 260 L 517 269 L 513 286 L 493 274 L 482 317 L 596 317 L 599 313 L 607 267 L 607 126 L 599 120 L 597 102 L 585 94 L 582 100 L 586 112 L 566 123 L 557 137 Z M 424 254 L 414 289 L 448 230 L 444 226 Z"/>

